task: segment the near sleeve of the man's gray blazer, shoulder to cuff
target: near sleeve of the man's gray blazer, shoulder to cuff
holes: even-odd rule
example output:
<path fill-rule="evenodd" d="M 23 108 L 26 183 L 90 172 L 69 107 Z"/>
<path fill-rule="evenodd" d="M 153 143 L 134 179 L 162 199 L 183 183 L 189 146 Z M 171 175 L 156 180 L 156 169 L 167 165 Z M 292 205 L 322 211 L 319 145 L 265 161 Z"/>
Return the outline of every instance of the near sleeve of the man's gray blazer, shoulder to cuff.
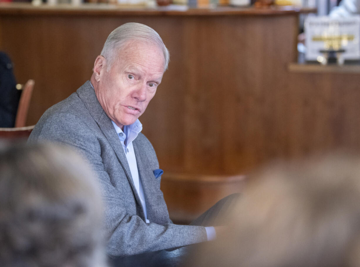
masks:
<path fill-rule="evenodd" d="M 91 164 L 103 190 L 104 231 L 110 256 L 134 255 L 176 248 L 207 240 L 203 226 L 145 223 L 123 207 L 126 196 L 111 183 L 102 162 L 99 139 L 83 119 L 73 114 L 43 116 L 32 131 L 29 142 L 52 140 L 75 147 Z"/>

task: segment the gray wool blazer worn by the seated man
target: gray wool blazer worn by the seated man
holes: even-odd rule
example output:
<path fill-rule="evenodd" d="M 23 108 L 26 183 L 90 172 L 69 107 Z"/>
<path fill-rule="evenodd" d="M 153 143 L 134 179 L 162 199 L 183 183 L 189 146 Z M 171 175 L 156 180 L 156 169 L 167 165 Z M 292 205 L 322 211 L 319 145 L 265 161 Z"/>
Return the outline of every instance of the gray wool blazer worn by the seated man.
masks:
<path fill-rule="evenodd" d="M 139 133 L 133 145 L 150 223 L 145 222 L 122 145 L 89 81 L 46 110 L 28 142 L 41 140 L 75 147 L 93 167 L 103 192 L 109 255 L 134 255 L 207 240 L 203 226 L 171 222 L 160 190 L 161 177 L 153 174 L 159 168 L 155 151 Z"/>

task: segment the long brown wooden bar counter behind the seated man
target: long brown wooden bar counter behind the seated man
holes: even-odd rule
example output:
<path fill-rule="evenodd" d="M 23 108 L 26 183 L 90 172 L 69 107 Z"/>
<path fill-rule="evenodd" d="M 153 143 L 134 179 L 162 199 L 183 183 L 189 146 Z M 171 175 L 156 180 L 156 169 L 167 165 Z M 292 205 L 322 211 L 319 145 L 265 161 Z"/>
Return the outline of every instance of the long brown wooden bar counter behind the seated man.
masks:
<path fill-rule="evenodd" d="M 230 189 L 211 191 L 215 202 L 239 191 L 242 176 L 237 185 L 234 176 L 271 159 L 360 149 L 358 73 L 289 67 L 297 62 L 301 11 L 307 10 L 1 4 L 0 49 L 13 59 L 18 82 L 35 80 L 32 125 L 89 80 L 114 28 L 126 22 L 154 28 L 170 50 L 170 64 L 140 120 L 165 171 L 165 198 L 174 195 L 166 193 L 174 192 L 174 180 L 192 177 L 217 188 L 229 180 Z M 194 183 L 187 186 L 184 195 L 204 194 Z M 193 214 L 197 204 L 188 204 Z"/>

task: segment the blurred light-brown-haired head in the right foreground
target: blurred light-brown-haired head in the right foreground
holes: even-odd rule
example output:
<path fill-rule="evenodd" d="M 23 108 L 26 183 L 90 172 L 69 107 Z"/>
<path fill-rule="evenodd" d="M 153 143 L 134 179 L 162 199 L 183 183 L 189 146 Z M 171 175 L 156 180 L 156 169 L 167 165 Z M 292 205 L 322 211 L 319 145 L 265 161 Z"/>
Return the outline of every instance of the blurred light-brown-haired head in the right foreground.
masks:
<path fill-rule="evenodd" d="M 276 163 L 248 177 L 229 229 L 186 266 L 360 266 L 360 158 Z"/>

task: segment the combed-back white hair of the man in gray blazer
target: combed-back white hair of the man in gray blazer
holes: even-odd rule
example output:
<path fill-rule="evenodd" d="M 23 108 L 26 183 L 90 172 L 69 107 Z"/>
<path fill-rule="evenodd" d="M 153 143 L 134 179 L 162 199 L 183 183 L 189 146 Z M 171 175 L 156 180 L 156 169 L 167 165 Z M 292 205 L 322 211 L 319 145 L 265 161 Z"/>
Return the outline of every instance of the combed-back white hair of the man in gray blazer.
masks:
<path fill-rule="evenodd" d="M 161 48 L 164 54 L 164 71 L 166 71 L 170 60 L 169 50 L 153 28 L 136 22 L 122 24 L 109 34 L 101 51 L 101 55 L 107 60 L 107 70 L 115 62 L 118 52 L 131 40 L 150 42 Z"/>

